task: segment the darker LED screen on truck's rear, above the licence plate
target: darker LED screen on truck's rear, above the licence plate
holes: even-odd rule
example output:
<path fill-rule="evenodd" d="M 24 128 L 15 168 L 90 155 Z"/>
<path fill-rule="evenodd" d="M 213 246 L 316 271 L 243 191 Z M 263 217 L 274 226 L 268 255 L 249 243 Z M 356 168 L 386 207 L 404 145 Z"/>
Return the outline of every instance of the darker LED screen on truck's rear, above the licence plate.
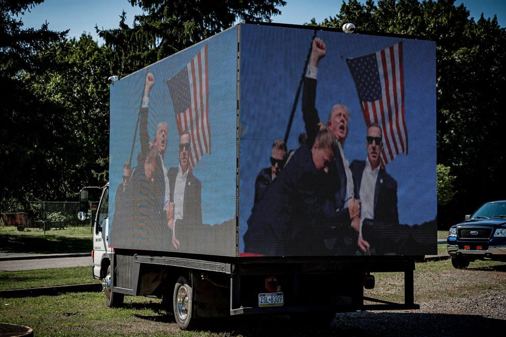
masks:
<path fill-rule="evenodd" d="M 435 42 L 240 29 L 240 256 L 436 254 Z"/>

